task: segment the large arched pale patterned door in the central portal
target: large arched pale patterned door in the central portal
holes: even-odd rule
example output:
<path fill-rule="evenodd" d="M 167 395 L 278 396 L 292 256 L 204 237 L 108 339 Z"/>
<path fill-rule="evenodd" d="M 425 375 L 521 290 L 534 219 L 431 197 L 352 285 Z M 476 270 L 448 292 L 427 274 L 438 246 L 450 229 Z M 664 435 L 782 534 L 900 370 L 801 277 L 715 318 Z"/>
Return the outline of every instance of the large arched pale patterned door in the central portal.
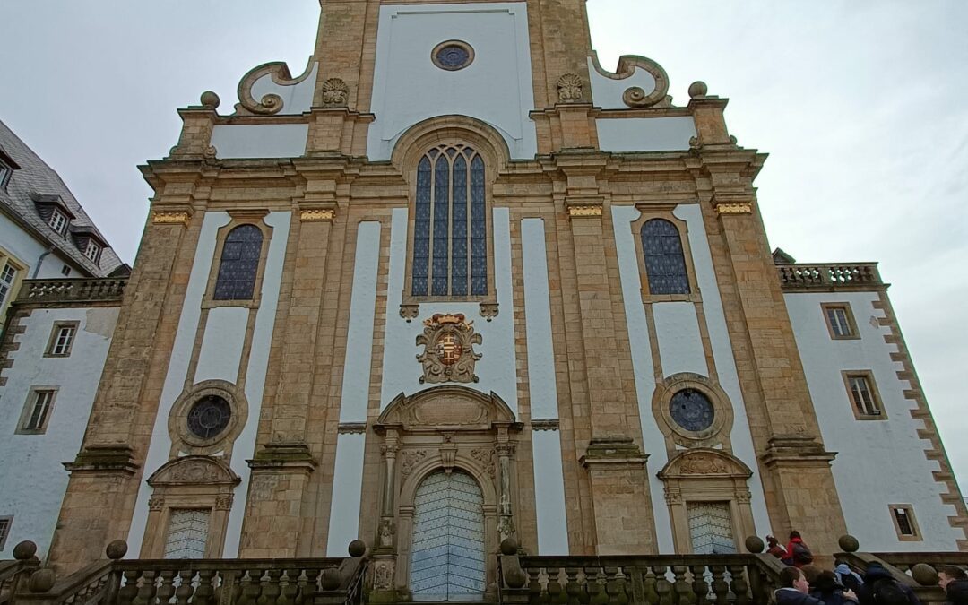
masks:
<path fill-rule="evenodd" d="M 468 474 L 427 476 L 414 499 L 410 591 L 415 600 L 476 600 L 486 581 L 484 497 Z"/>

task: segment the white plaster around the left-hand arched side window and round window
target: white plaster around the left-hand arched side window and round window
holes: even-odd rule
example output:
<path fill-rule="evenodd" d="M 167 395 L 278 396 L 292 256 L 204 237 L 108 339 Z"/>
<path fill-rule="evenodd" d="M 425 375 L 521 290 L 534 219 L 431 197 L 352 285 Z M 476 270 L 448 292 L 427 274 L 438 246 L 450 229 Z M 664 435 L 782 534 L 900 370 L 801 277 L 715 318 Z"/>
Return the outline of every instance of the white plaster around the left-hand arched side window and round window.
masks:
<path fill-rule="evenodd" d="M 226 543 L 222 553 L 224 557 L 228 558 L 236 557 L 238 554 L 242 518 L 249 489 L 249 465 L 246 463 L 246 459 L 255 455 L 262 387 L 265 384 L 269 347 L 275 328 L 276 307 L 279 300 L 283 261 L 286 257 L 290 218 L 290 212 L 270 212 L 263 219 L 266 225 L 273 227 L 273 237 L 269 241 L 269 250 L 266 256 L 259 307 L 252 310 L 244 307 L 222 307 L 209 311 L 205 332 L 202 336 L 196 374 L 192 380 L 193 383 L 211 378 L 224 379 L 229 382 L 237 381 L 244 344 L 244 338 L 240 338 L 240 335 L 244 337 L 249 315 L 251 313 L 257 314 L 249 363 L 245 368 L 245 396 L 249 405 L 248 420 L 232 447 L 231 460 L 227 461 L 229 467 L 242 479 L 242 482 L 235 488 L 235 499 L 228 516 Z M 201 318 L 201 302 L 208 286 L 208 277 L 215 257 L 218 231 L 221 227 L 225 227 L 230 220 L 231 217 L 228 216 L 228 213 L 222 211 L 206 212 L 202 219 L 196 256 L 188 287 L 185 290 L 182 313 L 178 319 L 178 329 L 171 350 L 171 360 L 168 363 L 162 398 L 159 403 L 158 414 L 155 417 L 148 455 L 144 463 L 144 472 L 138 489 L 132 527 L 128 534 L 128 557 L 136 558 L 138 556 L 144 538 L 145 525 L 148 519 L 148 499 L 151 496 L 151 488 L 146 483 L 146 479 L 168 460 L 168 452 L 171 449 L 171 438 L 167 429 L 168 415 L 175 400 L 182 394 L 185 378 L 188 376 L 198 321 Z"/>

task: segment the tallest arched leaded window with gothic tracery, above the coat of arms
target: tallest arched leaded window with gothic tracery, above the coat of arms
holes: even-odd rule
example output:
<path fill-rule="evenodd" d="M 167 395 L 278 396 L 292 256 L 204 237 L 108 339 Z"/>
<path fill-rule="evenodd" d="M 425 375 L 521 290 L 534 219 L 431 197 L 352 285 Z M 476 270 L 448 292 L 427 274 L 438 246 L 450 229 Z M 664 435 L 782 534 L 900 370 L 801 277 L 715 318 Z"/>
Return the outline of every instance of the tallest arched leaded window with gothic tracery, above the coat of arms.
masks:
<path fill-rule="evenodd" d="M 417 166 L 410 294 L 487 294 L 484 161 L 465 145 L 431 149 Z"/>

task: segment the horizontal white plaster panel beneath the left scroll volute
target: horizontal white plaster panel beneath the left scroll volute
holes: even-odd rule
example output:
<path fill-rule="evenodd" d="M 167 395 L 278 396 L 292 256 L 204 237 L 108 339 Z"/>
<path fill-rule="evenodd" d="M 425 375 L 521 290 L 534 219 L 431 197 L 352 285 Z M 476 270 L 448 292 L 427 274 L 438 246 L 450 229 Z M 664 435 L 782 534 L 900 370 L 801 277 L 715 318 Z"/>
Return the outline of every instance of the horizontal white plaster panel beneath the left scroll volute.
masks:
<path fill-rule="evenodd" d="M 306 153 L 309 124 L 220 124 L 212 128 L 217 156 L 298 158 Z"/>

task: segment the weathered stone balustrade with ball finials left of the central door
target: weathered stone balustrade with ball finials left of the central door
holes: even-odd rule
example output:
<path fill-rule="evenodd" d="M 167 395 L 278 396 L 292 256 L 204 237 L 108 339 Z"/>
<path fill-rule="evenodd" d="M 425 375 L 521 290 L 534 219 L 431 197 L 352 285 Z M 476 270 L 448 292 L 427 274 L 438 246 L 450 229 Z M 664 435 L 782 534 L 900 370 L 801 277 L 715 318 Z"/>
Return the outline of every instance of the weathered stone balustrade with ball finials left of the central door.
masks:
<path fill-rule="evenodd" d="M 26 545 L 26 546 L 25 546 Z M 21 548 L 22 547 L 22 548 Z M 33 557 L 31 542 L 15 556 Z M 347 559 L 123 560 L 128 546 L 111 542 L 107 560 L 64 578 L 50 568 L 23 566 L 12 574 L 3 605 L 362 605 L 366 545 L 349 545 Z M 15 561 L 15 564 L 23 560 Z M 0 571 L 7 566 L 0 563 Z M 0 576 L 2 577 L 2 576 Z"/>

